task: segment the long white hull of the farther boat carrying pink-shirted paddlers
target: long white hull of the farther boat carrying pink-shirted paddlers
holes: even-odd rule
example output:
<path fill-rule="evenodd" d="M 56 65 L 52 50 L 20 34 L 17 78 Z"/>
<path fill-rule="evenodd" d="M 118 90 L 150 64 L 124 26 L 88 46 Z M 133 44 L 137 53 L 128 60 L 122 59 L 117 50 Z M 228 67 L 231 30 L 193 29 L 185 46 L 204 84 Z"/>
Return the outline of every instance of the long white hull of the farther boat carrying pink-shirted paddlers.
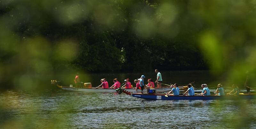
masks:
<path fill-rule="evenodd" d="M 59 88 L 67 91 L 76 91 L 76 92 L 116 92 L 116 89 L 102 89 L 102 88 L 76 88 L 76 87 L 65 87 L 57 85 Z M 171 91 L 170 87 L 155 88 L 156 92 L 166 92 Z M 135 93 L 135 89 L 125 89 L 129 92 Z M 137 90 L 138 93 L 141 92 L 140 89 Z M 147 89 L 144 89 L 143 92 L 147 93 Z"/>

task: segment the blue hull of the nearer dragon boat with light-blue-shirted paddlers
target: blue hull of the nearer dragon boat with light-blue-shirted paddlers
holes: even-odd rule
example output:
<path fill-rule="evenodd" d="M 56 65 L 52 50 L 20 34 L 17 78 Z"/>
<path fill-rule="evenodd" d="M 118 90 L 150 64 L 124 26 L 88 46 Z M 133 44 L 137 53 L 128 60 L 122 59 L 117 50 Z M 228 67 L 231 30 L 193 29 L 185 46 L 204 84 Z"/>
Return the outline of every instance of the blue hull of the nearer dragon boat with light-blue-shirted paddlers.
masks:
<path fill-rule="evenodd" d="M 225 95 L 225 96 L 217 96 L 217 95 L 211 95 L 211 96 L 168 96 L 166 97 L 163 94 L 131 94 L 132 97 L 136 98 L 143 98 L 143 99 L 151 99 L 151 100 L 234 100 L 234 99 L 256 99 L 256 95 Z"/>

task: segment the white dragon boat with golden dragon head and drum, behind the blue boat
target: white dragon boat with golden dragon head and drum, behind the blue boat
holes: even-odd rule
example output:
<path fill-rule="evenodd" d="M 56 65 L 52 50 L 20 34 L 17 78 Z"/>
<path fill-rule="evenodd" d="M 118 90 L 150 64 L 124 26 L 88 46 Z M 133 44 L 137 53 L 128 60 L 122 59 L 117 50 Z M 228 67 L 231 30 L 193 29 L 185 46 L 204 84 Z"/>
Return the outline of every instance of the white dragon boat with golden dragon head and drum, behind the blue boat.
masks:
<path fill-rule="evenodd" d="M 62 90 L 67 90 L 67 91 L 76 91 L 76 92 L 116 92 L 116 89 L 108 88 L 108 89 L 102 89 L 102 88 L 92 88 L 91 83 L 84 83 L 83 87 L 73 87 L 73 85 L 69 86 L 61 86 L 60 81 L 52 80 L 51 81 L 53 85 L 56 85 Z M 166 92 L 166 91 L 171 91 L 170 87 L 163 87 L 163 88 L 155 88 L 156 92 Z M 128 92 L 135 93 L 135 89 L 125 89 Z M 137 90 L 137 92 L 141 92 L 140 89 Z M 147 89 L 143 90 L 144 93 L 147 93 Z"/>

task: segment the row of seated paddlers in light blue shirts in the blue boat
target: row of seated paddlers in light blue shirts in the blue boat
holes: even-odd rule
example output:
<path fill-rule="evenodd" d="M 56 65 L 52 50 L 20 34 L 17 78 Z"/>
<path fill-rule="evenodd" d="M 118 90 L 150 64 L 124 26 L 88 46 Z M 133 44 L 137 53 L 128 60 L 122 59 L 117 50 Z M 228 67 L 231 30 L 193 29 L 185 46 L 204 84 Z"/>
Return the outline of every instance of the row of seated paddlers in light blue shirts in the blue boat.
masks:
<path fill-rule="evenodd" d="M 205 95 L 205 96 L 209 96 L 211 95 L 210 93 L 210 89 L 208 88 L 208 86 L 206 84 L 202 84 L 201 85 L 203 91 L 202 93 L 199 93 L 198 95 Z M 233 90 L 227 94 L 232 94 L 232 95 L 239 95 L 239 89 L 237 86 L 235 86 L 234 84 L 232 85 Z M 177 84 L 171 85 L 171 91 L 167 92 L 166 95 L 179 95 L 180 94 L 180 90 L 178 88 Z M 173 94 L 171 94 L 173 93 Z M 217 90 L 215 95 L 225 95 L 224 92 L 224 88 L 222 87 L 221 84 L 218 84 Z M 183 93 L 183 95 L 195 95 L 195 91 L 194 91 L 194 87 L 191 84 L 188 84 L 188 90 Z"/>

